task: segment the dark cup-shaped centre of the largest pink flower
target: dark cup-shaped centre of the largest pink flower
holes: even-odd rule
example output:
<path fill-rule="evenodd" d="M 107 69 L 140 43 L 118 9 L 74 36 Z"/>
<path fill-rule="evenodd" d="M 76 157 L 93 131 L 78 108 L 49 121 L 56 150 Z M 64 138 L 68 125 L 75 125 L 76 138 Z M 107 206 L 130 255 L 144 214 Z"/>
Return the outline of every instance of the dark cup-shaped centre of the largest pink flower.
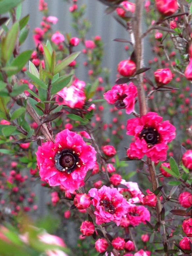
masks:
<path fill-rule="evenodd" d="M 71 149 L 63 149 L 55 155 L 55 168 L 68 174 L 73 172 L 79 164 L 79 157 Z"/>

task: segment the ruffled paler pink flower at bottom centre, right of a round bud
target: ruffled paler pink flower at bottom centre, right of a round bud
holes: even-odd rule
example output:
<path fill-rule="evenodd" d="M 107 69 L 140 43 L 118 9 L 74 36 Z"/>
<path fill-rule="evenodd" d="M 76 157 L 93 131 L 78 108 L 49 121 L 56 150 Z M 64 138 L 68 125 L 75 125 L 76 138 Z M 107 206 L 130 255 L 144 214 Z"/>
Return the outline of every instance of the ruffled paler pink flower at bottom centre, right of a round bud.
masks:
<path fill-rule="evenodd" d="M 128 210 L 128 203 L 118 192 L 117 188 L 102 186 L 99 190 L 91 188 L 88 193 L 94 197 L 92 204 L 95 206 L 96 224 L 114 221 L 120 225 L 122 217 Z"/>

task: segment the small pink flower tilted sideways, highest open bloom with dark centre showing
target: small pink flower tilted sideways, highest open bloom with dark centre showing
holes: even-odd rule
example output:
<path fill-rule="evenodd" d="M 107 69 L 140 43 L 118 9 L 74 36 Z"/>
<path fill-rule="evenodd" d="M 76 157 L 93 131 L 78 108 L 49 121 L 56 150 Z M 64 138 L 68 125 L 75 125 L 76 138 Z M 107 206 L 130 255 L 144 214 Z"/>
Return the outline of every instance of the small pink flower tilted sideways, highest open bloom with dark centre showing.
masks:
<path fill-rule="evenodd" d="M 127 84 L 115 84 L 111 90 L 103 94 L 109 104 L 115 104 L 117 109 L 125 108 L 125 112 L 130 114 L 134 110 L 135 97 L 137 96 L 136 86 L 130 82 Z"/>

